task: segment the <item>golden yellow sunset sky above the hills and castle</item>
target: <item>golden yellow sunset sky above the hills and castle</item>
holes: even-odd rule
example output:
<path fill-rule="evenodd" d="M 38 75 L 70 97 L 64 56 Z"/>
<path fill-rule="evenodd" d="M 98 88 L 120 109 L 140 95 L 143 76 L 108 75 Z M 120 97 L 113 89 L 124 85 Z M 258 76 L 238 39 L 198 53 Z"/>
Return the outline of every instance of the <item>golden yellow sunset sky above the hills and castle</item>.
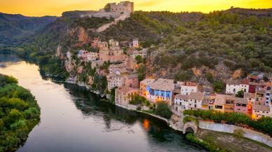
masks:
<path fill-rule="evenodd" d="M 121 0 L 0 0 L 0 12 L 27 16 L 57 15 L 64 11 L 97 11 Z M 133 0 L 130 0 L 133 1 Z M 272 8 L 272 0 L 134 0 L 135 11 L 221 11 L 234 7 Z"/>

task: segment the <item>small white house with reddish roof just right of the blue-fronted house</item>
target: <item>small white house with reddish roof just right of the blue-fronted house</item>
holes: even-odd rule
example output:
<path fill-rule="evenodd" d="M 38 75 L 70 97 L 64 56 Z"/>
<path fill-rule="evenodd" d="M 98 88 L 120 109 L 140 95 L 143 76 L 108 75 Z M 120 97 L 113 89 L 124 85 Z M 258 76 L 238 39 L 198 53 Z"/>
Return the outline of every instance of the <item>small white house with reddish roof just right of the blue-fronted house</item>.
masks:
<path fill-rule="evenodd" d="M 191 92 L 198 92 L 198 84 L 192 82 L 178 82 L 180 84 L 180 94 L 190 95 Z"/>

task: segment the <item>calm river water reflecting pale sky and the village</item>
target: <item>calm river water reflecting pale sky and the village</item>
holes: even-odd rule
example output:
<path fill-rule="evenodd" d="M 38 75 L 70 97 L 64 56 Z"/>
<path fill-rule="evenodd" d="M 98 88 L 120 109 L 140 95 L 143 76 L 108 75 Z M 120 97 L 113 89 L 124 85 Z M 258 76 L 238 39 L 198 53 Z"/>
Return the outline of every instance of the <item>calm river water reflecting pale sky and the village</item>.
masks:
<path fill-rule="evenodd" d="M 0 73 L 18 78 L 41 107 L 41 122 L 19 152 L 205 151 L 161 120 L 107 104 L 76 86 L 43 79 L 35 64 L 6 59 L 0 60 Z"/>

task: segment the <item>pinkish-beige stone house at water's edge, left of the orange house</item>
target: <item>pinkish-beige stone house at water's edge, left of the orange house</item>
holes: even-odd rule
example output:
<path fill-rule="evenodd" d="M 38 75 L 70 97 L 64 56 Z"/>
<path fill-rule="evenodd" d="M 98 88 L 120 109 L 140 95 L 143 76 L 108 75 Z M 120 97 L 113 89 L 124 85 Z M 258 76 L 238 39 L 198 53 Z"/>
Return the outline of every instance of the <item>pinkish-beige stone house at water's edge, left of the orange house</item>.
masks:
<path fill-rule="evenodd" d="M 115 90 L 115 104 L 126 106 L 132 100 L 132 97 L 138 94 L 138 90 L 129 87 L 119 87 Z"/>

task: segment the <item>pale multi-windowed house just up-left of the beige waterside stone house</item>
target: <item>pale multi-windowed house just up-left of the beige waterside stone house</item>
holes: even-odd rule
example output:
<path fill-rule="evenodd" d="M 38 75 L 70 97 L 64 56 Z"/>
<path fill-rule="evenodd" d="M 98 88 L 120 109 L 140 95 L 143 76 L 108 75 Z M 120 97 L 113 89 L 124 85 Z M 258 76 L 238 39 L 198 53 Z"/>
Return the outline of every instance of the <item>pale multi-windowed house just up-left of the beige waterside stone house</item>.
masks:
<path fill-rule="evenodd" d="M 118 74 L 109 74 L 107 76 L 108 90 L 124 85 L 124 78 Z"/>

